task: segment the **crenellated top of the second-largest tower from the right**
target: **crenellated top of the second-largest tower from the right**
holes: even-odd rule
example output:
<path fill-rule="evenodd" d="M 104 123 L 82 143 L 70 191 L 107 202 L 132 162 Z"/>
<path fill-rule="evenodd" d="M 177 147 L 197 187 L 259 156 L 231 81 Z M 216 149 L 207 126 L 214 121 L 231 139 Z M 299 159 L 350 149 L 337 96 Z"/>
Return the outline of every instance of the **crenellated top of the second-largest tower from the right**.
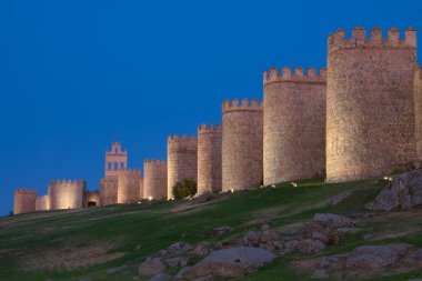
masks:
<path fill-rule="evenodd" d="M 272 82 L 298 82 L 298 83 L 326 83 L 326 69 L 321 68 L 316 73 L 314 68 L 308 68 L 307 73 L 303 68 L 294 68 L 294 72 L 290 67 L 283 67 L 281 72 L 278 68 L 272 68 L 263 72 L 263 83 Z"/>

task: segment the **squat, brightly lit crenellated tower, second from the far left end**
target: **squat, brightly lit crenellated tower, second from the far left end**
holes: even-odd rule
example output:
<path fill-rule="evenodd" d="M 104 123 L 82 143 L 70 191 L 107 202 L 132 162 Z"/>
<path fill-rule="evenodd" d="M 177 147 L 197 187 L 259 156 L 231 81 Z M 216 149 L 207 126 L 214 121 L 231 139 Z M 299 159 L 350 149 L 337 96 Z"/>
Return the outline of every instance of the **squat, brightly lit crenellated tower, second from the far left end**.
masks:
<path fill-rule="evenodd" d="M 86 181 L 51 181 L 48 191 L 50 210 L 82 208 L 86 189 Z"/>

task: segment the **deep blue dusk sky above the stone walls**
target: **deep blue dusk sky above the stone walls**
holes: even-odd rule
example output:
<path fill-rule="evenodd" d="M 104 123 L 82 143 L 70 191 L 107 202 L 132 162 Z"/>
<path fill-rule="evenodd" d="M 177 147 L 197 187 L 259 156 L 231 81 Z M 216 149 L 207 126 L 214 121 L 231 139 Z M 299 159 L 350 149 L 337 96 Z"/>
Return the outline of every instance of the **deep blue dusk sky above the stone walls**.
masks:
<path fill-rule="evenodd" d="M 272 66 L 325 66 L 328 33 L 354 26 L 422 32 L 422 1 L 1 1 L 0 215 L 16 187 L 98 189 L 113 140 L 131 168 L 164 159 L 168 134 L 261 99 Z"/>

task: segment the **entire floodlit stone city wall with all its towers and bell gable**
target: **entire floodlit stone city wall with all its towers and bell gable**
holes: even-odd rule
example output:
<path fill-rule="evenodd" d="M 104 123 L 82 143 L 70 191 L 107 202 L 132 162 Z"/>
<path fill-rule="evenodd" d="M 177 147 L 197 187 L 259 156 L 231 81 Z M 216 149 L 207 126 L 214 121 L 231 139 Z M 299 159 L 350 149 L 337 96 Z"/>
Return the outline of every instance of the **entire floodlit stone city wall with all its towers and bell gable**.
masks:
<path fill-rule="evenodd" d="M 310 178 L 378 178 L 422 161 L 422 68 L 416 31 L 356 27 L 328 37 L 326 70 L 264 71 L 263 102 L 222 103 L 222 126 L 199 126 L 198 139 L 168 138 L 168 159 L 128 168 L 120 142 L 105 151 L 99 191 L 86 181 L 51 181 L 48 194 L 14 191 L 14 214 L 172 198 L 183 179 L 198 193 L 235 191 Z"/>

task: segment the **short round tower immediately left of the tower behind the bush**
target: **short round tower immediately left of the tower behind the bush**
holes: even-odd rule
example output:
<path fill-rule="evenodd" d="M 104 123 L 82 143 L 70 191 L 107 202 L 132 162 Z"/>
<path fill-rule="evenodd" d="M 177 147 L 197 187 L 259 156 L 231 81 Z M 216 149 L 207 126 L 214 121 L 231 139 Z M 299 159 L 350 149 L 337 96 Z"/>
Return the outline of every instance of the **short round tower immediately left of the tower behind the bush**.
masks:
<path fill-rule="evenodd" d="M 143 162 L 143 198 L 167 198 L 167 163 L 162 160 Z"/>

